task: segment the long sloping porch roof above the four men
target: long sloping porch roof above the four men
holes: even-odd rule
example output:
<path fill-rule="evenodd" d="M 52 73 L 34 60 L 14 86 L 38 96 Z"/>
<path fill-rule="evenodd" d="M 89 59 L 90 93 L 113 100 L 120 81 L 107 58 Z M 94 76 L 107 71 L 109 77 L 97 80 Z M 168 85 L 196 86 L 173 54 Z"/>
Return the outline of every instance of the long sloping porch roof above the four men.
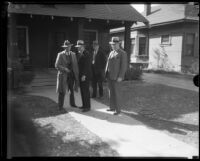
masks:
<path fill-rule="evenodd" d="M 39 4 L 12 4 L 8 7 L 8 13 L 148 22 L 129 4 L 56 4 L 54 6 L 55 8 Z"/>

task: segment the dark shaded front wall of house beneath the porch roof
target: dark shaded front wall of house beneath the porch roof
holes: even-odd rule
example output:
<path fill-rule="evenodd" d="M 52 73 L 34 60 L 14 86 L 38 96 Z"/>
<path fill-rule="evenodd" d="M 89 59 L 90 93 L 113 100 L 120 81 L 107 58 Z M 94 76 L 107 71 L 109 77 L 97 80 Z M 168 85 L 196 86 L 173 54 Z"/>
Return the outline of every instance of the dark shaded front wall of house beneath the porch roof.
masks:
<path fill-rule="evenodd" d="M 76 45 L 78 25 L 77 19 L 71 21 L 63 17 L 52 19 L 51 16 L 43 15 L 33 15 L 32 18 L 30 15 L 17 15 L 17 26 L 28 28 L 29 56 L 34 68 L 54 68 L 57 53 L 63 50 L 61 47 L 63 40 L 68 39 L 74 46 Z M 96 30 L 101 48 L 109 53 L 109 30 L 107 28 L 94 23 L 86 23 L 84 29 Z M 56 34 L 60 33 L 64 34 L 64 37 L 58 41 Z M 76 51 L 74 46 L 72 51 Z"/>

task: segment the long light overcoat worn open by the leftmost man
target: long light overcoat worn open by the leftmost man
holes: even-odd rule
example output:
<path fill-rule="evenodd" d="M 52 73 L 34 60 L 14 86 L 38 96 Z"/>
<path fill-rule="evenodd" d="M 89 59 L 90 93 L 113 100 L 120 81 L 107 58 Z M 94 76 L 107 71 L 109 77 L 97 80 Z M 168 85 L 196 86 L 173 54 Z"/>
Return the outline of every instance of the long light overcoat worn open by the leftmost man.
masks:
<path fill-rule="evenodd" d="M 70 56 L 71 57 L 68 57 L 67 59 L 65 51 L 62 51 L 58 53 L 58 56 L 56 58 L 55 68 L 58 70 L 56 92 L 65 93 L 68 88 L 67 85 L 68 73 L 65 71 L 65 68 L 69 69 L 70 63 L 72 63 L 71 70 L 73 70 L 74 72 L 75 83 L 79 84 L 79 79 L 78 79 L 79 70 L 78 70 L 76 54 L 70 51 Z"/>

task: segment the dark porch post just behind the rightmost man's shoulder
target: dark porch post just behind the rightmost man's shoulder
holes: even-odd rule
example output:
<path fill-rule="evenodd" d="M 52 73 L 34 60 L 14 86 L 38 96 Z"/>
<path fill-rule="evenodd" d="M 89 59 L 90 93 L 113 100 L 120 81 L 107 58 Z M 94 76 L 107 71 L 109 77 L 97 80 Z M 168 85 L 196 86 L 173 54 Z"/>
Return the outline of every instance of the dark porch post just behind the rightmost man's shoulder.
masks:
<path fill-rule="evenodd" d="M 131 25 L 132 22 L 125 22 L 125 33 L 124 33 L 124 50 L 127 53 L 127 65 L 129 68 L 129 63 L 130 63 L 130 55 L 131 55 Z"/>

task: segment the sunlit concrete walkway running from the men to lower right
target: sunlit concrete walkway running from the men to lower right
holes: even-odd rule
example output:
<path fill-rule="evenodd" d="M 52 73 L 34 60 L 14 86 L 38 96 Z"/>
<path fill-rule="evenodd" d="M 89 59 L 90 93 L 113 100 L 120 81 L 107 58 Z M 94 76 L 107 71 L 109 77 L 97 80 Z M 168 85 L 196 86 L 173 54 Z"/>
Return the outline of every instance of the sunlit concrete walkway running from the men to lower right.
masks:
<path fill-rule="evenodd" d="M 57 102 L 55 87 L 35 88 L 30 94 L 48 97 Z M 80 94 L 76 93 L 75 97 L 76 104 L 81 106 Z M 112 112 L 106 111 L 108 108 L 106 105 L 93 99 L 91 99 L 92 110 L 87 113 L 71 108 L 68 104 L 68 97 L 66 97 L 65 107 L 69 110 L 69 114 L 107 142 L 120 156 L 192 158 L 199 155 L 196 148 L 162 131 L 149 128 L 124 114 L 112 115 Z"/>

